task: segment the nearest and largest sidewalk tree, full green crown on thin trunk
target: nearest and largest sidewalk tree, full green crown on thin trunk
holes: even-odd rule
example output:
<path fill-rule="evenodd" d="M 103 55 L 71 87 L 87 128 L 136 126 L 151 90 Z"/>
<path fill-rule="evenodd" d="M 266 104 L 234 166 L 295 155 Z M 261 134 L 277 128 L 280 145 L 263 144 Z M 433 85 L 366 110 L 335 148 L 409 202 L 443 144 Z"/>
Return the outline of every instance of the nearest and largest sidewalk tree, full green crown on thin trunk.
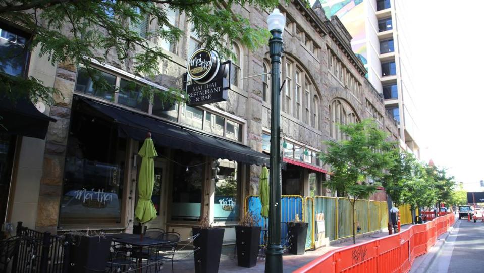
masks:
<path fill-rule="evenodd" d="M 353 243 L 355 237 L 355 204 L 368 198 L 377 187 L 368 183 L 383 176 L 392 166 L 394 143 L 386 141 L 387 133 L 377 124 L 366 119 L 360 123 L 339 125 L 347 139 L 327 141 L 328 149 L 321 159 L 331 165 L 333 175 L 325 186 L 346 196 L 352 207 Z"/>

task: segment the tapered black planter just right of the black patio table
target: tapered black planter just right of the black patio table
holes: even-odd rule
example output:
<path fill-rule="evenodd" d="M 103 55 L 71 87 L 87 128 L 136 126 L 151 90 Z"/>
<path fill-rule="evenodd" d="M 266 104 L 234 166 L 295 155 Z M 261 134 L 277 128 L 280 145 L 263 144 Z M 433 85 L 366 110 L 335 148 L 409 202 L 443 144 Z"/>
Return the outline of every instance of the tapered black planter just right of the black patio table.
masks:
<path fill-rule="evenodd" d="M 224 241 L 225 229 L 202 229 L 192 228 L 193 235 L 198 235 L 193 240 L 195 273 L 219 272 L 220 254 L 222 254 L 222 242 Z"/>

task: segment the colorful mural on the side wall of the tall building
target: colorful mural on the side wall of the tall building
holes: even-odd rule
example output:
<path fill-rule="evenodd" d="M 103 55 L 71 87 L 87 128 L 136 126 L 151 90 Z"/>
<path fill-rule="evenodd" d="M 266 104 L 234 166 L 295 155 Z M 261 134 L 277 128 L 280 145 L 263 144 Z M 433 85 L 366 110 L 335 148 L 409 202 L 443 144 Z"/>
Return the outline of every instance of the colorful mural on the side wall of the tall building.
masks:
<path fill-rule="evenodd" d="M 321 0 L 321 6 L 328 18 L 336 15 L 351 34 L 351 46 L 356 56 L 367 64 L 365 5 L 363 0 Z"/>

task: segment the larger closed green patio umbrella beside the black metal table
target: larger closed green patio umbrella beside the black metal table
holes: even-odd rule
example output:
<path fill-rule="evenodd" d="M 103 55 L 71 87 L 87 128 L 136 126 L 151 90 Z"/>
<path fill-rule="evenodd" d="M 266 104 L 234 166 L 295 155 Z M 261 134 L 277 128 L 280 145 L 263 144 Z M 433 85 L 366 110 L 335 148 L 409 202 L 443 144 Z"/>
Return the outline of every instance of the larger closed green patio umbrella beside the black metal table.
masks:
<path fill-rule="evenodd" d="M 138 154 L 142 159 L 138 179 L 138 203 L 136 204 L 134 215 L 140 223 L 146 223 L 156 217 L 156 209 L 153 202 L 151 202 L 151 195 L 154 187 L 153 157 L 158 156 L 158 154 L 154 148 L 150 133 L 148 133 Z"/>

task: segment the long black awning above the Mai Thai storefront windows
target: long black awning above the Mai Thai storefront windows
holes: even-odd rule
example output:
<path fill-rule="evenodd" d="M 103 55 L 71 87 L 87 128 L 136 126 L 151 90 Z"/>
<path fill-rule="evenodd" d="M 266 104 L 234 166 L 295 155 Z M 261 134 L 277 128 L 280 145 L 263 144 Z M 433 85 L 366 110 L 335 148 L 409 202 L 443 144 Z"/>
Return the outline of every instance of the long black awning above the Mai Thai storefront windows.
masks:
<path fill-rule="evenodd" d="M 154 143 L 174 149 L 203 154 L 214 158 L 236 160 L 242 163 L 269 165 L 269 156 L 225 139 L 204 135 L 153 117 L 122 108 L 81 98 L 100 113 L 120 124 L 120 130 L 129 137 L 142 141 L 151 132 Z"/>

